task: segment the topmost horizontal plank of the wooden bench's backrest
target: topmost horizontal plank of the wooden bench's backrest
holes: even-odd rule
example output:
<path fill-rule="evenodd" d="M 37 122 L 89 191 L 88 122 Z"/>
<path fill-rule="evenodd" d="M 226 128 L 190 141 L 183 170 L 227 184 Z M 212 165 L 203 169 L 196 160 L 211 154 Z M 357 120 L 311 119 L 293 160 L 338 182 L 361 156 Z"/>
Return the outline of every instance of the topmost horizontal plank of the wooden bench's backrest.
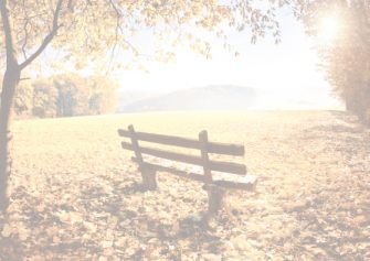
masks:
<path fill-rule="evenodd" d="M 119 129 L 118 134 L 120 137 L 131 138 L 130 133 L 124 129 Z M 155 142 L 165 145 L 176 145 L 188 149 L 198 149 L 198 150 L 201 149 L 199 140 L 189 138 L 155 134 L 147 132 L 135 132 L 135 137 L 140 141 Z M 221 143 L 221 142 L 208 142 L 207 151 L 209 153 L 233 155 L 233 156 L 243 156 L 245 154 L 243 145 Z"/>

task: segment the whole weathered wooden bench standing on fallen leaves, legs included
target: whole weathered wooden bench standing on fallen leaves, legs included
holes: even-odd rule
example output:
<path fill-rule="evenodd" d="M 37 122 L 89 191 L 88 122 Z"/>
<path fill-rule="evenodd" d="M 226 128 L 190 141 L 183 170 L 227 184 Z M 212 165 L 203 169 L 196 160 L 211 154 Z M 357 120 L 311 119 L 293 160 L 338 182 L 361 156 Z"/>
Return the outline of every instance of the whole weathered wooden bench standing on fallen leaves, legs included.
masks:
<path fill-rule="evenodd" d="M 138 168 L 142 177 L 142 186 L 146 189 L 157 188 L 157 172 L 166 172 L 179 177 L 190 178 L 204 184 L 203 188 L 209 196 L 209 214 L 216 214 L 224 205 L 224 195 L 228 189 L 254 191 L 256 186 L 256 176 L 246 175 L 246 166 L 244 164 L 214 161 L 209 154 L 221 154 L 229 156 L 244 156 L 244 146 L 237 144 L 226 144 L 210 142 L 207 131 L 199 133 L 199 139 L 188 139 L 181 137 L 162 135 L 147 132 L 137 132 L 134 126 L 129 126 L 127 130 L 119 129 L 118 134 L 129 138 L 130 142 L 121 142 L 121 146 L 126 150 L 134 151 L 134 162 L 138 164 Z M 199 151 L 199 155 L 189 155 L 168 150 L 144 146 L 139 142 L 151 142 L 162 145 L 172 145 L 184 149 L 193 149 Z M 150 155 L 154 159 L 162 159 L 161 164 L 154 163 L 144 159 L 144 155 Z M 166 160 L 172 162 L 181 162 L 201 167 L 201 174 L 180 170 L 180 167 L 166 166 Z M 235 175 L 231 175 L 235 174 Z"/>

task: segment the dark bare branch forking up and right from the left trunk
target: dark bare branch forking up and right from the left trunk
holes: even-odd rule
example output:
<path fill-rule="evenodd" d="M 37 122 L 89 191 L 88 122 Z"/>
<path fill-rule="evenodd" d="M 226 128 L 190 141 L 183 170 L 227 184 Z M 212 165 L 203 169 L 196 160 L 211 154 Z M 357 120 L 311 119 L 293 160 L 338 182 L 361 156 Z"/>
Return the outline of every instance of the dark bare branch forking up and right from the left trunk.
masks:
<path fill-rule="evenodd" d="M 62 9 L 62 2 L 63 2 L 63 0 L 59 0 L 57 3 L 56 3 L 56 8 L 55 8 L 55 11 L 54 11 L 54 17 L 53 17 L 53 29 L 45 36 L 45 39 L 42 41 L 42 43 L 39 46 L 39 48 L 28 59 L 25 59 L 20 65 L 21 69 L 23 69 L 27 66 L 29 66 L 47 47 L 47 45 L 52 42 L 52 40 L 56 35 L 57 30 L 62 26 L 57 22 L 59 17 L 60 17 L 60 12 L 61 12 L 61 9 Z"/>

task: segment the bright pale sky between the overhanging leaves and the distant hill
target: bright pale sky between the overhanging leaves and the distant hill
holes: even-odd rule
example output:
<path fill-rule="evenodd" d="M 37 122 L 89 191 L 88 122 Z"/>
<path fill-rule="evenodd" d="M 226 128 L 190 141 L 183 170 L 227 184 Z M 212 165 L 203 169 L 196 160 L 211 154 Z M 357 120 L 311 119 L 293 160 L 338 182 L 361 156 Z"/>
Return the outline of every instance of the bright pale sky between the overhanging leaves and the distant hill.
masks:
<path fill-rule="evenodd" d="M 250 36 L 230 34 L 230 43 L 241 53 L 239 57 L 213 46 L 212 59 L 180 50 L 176 63 L 147 64 L 149 73 L 139 69 L 119 73 L 123 90 L 172 91 L 204 85 L 239 85 L 253 87 L 266 99 L 277 99 L 274 108 L 303 100 L 314 108 L 337 108 L 340 104 L 330 95 L 330 87 L 318 68 L 314 40 L 288 11 L 279 14 L 282 43 L 266 37 L 250 44 Z M 268 98 L 269 97 L 269 98 Z M 285 106 L 284 106 L 285 105 Z M 316 106 L 315 106 L 316 105 Z"/>

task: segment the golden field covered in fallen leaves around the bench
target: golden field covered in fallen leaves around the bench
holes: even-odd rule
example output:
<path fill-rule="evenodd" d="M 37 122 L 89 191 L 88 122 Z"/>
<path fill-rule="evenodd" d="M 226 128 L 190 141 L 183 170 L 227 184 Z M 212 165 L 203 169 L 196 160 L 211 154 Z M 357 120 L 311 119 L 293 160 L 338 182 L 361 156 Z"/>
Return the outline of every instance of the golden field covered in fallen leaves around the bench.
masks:
<path fill-rule="evenodd" d="M 201 184 L 141 192 L 118 128 L 243 143 L 255 193 L 209 229 Z M 370 260 L 370 131 L 343 112 L 144 113 L 18 121 L 0 260 Z"/>

